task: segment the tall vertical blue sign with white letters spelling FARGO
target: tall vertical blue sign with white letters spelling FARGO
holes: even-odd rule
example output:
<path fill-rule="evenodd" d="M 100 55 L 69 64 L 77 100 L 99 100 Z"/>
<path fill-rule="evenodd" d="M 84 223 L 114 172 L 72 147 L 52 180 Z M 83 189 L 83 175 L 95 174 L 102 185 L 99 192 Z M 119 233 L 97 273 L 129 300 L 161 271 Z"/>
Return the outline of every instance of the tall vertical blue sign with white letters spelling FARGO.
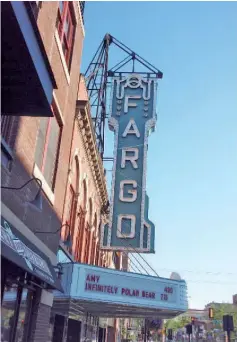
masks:
<path fill-rule="evenodd" d="M 115 133 L 110 220 L 101 248 L 154 253 L 155 227 L 148 219 L 146 164 L 156 123 L 156 80 L 139 74 L 115 78 L 110 129 Z"/>

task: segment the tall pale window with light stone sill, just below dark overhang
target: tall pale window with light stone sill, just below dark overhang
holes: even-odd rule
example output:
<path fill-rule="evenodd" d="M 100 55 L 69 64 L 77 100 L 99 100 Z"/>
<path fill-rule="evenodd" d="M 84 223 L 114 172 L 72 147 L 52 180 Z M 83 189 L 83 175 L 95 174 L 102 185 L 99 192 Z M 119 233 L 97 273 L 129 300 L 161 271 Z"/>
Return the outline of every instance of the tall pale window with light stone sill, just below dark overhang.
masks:
<path fill-rule="evenodd" d="M 56 177 L 60 138 L 61 127 L 56 117 L 41 118 L 35 150 L 35 163 L 52 190 Z"/>

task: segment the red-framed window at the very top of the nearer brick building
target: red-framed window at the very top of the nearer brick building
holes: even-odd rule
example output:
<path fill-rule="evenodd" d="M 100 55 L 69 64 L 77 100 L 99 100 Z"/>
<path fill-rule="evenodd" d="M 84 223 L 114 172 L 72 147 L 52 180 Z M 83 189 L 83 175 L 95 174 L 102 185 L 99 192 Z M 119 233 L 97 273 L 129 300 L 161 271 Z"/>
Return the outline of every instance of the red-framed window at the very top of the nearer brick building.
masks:
<path fill-rule="evenodd" d="M 75 39 L 75 17 L 73 1 L 59 1 L 57 30 L 62 44 L 64 57 L 70 70 Z"/>

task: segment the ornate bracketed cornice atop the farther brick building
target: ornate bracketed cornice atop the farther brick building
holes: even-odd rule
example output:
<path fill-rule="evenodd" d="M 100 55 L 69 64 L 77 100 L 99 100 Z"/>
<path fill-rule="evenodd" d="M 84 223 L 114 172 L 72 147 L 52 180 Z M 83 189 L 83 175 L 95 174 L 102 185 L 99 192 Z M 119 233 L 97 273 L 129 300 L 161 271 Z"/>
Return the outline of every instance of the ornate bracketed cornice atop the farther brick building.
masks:
<path fill-rule="evenodd" d="M 101 204 L 108 202 L 108 192 L 104 175 L 104 167 L 98 148 L 96 146 L 96 137 L 93 122 L 90 115 L 90 104 L 86 100 L 77 100 L 76 119 L 79 130 L 82 134 L 83 145 L 85 147 L 86 157 L 91 167 L 93 179 L 101 199 Z"/>

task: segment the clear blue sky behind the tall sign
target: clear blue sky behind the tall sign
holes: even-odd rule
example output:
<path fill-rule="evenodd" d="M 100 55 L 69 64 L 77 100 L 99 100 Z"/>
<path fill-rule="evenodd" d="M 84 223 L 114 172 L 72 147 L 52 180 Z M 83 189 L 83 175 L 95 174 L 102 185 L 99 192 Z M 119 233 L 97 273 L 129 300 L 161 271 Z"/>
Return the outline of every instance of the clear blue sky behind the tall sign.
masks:
<path fill-rule="evenodd" d="M 164 73 L 148 151 L 156 254 L 145 258 L 160 276 L 187 279 L 192 308 L 237 293 L 236 15 L 236 2 L 85 8 L 82 71 L 108 32 Z"/>

